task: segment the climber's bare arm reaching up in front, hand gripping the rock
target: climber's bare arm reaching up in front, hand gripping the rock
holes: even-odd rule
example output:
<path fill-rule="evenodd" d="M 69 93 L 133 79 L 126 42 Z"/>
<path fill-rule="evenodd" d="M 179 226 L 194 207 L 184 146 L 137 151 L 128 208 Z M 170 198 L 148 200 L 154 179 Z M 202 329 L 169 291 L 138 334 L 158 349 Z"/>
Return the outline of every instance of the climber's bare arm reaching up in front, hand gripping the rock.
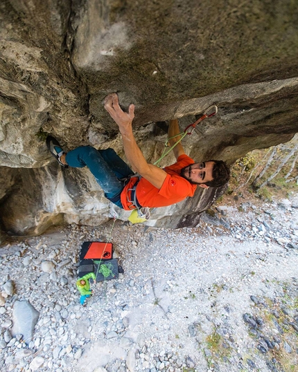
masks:
<path fill-rule="evenodd" d="M 119 106 L 118 95 L 112 93 L 107 95 L 105 98 L 105 109 L 119 127 L 125 155 L 128 158 L 132 169 L 139 173 L 143 178 L 146 178 L 146 180 L 152 183 L 152 185 L 160 189 L 166 179 L 166 172 L 155 165 L 148 164 L 141 149 L 137 145 L 132 133 L 134 104 L 130 104 L 128 113 L 125 113 Z"/>

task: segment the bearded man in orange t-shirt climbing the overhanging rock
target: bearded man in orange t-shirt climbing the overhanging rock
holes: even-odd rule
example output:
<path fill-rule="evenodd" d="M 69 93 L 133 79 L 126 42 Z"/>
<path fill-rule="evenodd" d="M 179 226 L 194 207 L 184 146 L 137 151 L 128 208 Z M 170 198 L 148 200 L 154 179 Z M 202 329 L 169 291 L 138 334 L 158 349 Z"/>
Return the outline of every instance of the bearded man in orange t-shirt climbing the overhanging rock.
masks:
<path fill-rule="evenodd" d="M 120 105 L 118 95 L 112 93 L 105 98 L 105 109 L 119 127 L 125 155 L 132 169 L 113 149 L 96 150 L 91 146 L 81 146 L 63 151 L 55 138 L 48 136 L 46 144 L 51 154 L 62 167 L 87 166 L 105 192 L 105 197 L 124 210 L 141 207 L 164 207 L 193 196 L 197 187 L 220 187 L 229 180 L 229 168 L 222 160 L 194 162 L 184 153 L 179 142 L 173 152 L 177 162 L 161 169 L 149 164 L 132 133 L 134 104 L 128 113 Z M 170 120 L 169 137 L 179 134 L 177 120 Z M 177 142 L 170 140 L 170 145 Z M 139 176 L 135 176 L 137 172 Z"/>

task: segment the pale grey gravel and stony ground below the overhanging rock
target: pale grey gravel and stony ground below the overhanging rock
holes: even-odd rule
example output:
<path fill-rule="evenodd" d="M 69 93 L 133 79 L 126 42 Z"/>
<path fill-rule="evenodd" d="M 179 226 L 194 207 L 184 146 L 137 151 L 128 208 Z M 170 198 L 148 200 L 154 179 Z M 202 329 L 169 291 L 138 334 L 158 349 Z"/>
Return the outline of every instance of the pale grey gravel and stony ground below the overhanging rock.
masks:
<path fill-rule="evenodd" d="M 116 221 L 124 274 L 82 307 L 80 245 L 112 222 L 0 248 L 1 371 L 298 371 L 297 194 L 223 201 L 195 228 Z M 32 340 L 20 303 L 39 313 Z"/>

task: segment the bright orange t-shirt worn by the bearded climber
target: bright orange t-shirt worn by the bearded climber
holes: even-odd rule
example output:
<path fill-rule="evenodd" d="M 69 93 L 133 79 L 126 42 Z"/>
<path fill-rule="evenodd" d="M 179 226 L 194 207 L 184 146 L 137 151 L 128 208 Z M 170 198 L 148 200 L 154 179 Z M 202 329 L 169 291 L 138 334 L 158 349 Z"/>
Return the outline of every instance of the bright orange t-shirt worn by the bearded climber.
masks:
<path fill-rule="evenodd" d="M 180 176 L 180 170 L 186 165 L 193 164 L 194 161 L 187 155 L 181 155 L 177 158 L 175 164 L 164 168 L 167 176 L 160 189 L 153 186 L 148 180 L 141 177 L 137 185 L 137 199 L 142 207 L 166 207 L 183 201 L 187 196 L 193 196 L 197 185 L 189 183 L 188 180 Z M 132 210 L 134 206 L 128 201 L 130 190 L 139 178 L 132 177 L 121 192 L 121 203 L 124 210 Z"/>

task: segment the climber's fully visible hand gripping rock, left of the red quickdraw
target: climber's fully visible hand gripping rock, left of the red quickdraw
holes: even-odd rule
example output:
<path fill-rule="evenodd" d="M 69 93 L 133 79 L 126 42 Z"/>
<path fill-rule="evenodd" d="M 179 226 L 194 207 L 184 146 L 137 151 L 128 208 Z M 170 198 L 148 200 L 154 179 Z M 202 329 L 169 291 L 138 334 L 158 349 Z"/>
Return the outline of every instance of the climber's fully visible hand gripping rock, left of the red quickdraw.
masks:
<path fill-rule="evenodd" d="M 130 104 L 128 113 L 125 113 L 119 106 L 119 99 L 116 93 L 111 93 L 105 97 L 105 109 L 118 125 L 121 133 L 132 129 L 134 118 L 134 104 Z"/>

